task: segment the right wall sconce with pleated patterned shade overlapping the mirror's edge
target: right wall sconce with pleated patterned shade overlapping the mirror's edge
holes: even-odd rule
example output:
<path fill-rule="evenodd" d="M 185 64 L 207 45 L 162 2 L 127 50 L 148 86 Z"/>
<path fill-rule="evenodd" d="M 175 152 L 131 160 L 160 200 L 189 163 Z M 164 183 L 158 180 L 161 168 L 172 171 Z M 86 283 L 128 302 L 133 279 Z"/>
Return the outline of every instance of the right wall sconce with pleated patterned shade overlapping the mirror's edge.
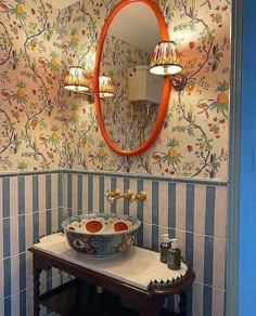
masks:
<path fill-rule="evenodd" d="M 179 74 L 182 69 L 176 42 L 158 42 L 151 56 L 150 71 L 154 75 L 168 76 L 174 89 L 181 91 L 187 84 L 187 77 Z"/>

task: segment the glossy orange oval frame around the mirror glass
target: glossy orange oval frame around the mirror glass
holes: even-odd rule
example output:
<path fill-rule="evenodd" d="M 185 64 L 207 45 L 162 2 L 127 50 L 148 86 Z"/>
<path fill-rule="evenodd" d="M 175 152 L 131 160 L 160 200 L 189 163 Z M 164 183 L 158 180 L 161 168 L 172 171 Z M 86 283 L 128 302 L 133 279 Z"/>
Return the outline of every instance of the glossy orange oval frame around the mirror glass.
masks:
<path fill-rule="evenodd" d="M 164 78 L 164 83 L 163 83 L 163 91 L 162 91 L 162 98 L 161 98 L 161 105 L 158 109 L 158 114 L 155 120 L 155 124 L 152 129 L 151 134 L 149 137 L 145 140 L 145 142 L 140 145 L 139 147 L 130 150 L 121 149 L 120 147 L 116 146 L 111 137 L 108 136 L 103 117 L 102 117 L 102 110 L 101 110 L 101 102 L 100 102 L 100 96 L 99 96 L 99 80 L 98 78 L 100 77 L 100 64 L 101 64 L 101 55 L 102 55 L 102 49 L 104 44 L 104 40 L 106 37 L 106 31 L 110 27 L 111 22 L 115 17 L 115 15 L 126 5 L 133 3 L 133 2 L 142 2 L 148 4 L 152 11 L 154 12 L 158 26 L 159 26 L 159 31 L 161 31 L 161 37 L 162 40 L 169 40 L 169 35 L 168 35 L 168 27 L 167 24 L 164 19 L 163 13 L 159 9 L 159 6 L 154 3 L 152 0 L 123 0 L 120 1 L 116 6 L 113 8 L 113 10 L 110 12 L 103 27 L 101 30 L 101 35 L 99 38 L 98 47 L 97 47 L 97 55 L 95 55 L 95 67 L 94 67 L 94 101 L 95 101 L 95 111 L 97 111 L 97 119 L 98 123 L 100 126 L 101 133 L 103 135 L 103 139 L 105 140 L 107 146 L 112 148 L 113 152 L 123 155 L 123 156 L 136 156 L 144 153 L 146 149 L 149 149 L 154 142 L 156 141 L 157 136 L 159 135 L 159 132 L 163 128 L 167 109 L 168 109 L 168 102 L 169 102 L 169 95 L 170 95 L 170 80 L 168 78 Z"/>

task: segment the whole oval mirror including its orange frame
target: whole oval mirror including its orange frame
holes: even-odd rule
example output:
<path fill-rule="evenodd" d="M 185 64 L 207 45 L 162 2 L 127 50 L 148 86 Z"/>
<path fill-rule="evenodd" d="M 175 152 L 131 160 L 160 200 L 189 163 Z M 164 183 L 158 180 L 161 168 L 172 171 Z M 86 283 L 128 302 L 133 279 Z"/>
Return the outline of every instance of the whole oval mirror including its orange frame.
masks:
<path fill-rule="evenodd" d="M 151 0 L 120 1 L 102 27 L 94 78 L 112 78 L 114 95 L 104 97 L 94 80 L 95 109 L 102 135 L 117 154 L 142 154 L 163 128 L 170 81 L 149 71 L 151 53 L 162 40 L 169 40 L 168 28 Z"/>

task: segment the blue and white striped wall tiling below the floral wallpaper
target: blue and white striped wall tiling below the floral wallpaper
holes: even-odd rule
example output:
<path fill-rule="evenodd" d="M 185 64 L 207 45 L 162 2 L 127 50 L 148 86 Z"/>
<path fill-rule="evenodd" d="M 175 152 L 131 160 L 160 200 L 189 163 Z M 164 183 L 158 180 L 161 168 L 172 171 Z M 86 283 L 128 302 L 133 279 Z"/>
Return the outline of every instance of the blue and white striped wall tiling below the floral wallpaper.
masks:
<path fill-rule="evenodd" d="M 145 201 L 106 201 L 118 188 L 145 190 Z M 0 175 L 0 316 L 33 315 L 31 255 L 27 249 L 39 236 L 61 228 L 69 214 L 116 212 L 138 216 L 138 246 L 158 250 L 162 235 L 177 237 L 196 279 L 188 292 L 189 315 L 222 316 L 227 183 L 129 173 L 73 170 L 4 173 Z M 42 274 L 42 289 L 67 279 L 53 269 Z M 177 305 L 170 299 L 169 305 Z M 42 311 L 46 315 L 47 311 Z"/>

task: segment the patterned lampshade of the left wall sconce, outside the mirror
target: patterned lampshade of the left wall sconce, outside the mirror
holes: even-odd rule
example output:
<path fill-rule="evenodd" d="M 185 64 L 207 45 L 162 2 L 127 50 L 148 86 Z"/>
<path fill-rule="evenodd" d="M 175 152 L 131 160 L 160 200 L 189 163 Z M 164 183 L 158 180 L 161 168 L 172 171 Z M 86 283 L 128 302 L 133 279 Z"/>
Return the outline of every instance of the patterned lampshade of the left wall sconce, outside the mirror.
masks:
<path fill-rule="evenodd" d="M 72 66 L 64 79 L 64 88 L 72 92 L 89 92 L 89 83 L 85 69 L 79 66 Z"/>

